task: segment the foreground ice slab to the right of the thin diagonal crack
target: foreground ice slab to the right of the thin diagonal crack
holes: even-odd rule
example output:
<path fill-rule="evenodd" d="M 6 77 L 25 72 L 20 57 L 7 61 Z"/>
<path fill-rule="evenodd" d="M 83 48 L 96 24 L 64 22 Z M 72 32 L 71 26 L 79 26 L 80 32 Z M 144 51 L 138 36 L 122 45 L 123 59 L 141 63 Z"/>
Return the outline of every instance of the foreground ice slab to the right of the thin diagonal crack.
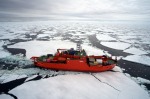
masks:
<path fill-rule="evenodd" d="M 148 93 L 123 73 L 103 72 L 95 76 L 120 91 L 117 99 L 149 99 Z"/>

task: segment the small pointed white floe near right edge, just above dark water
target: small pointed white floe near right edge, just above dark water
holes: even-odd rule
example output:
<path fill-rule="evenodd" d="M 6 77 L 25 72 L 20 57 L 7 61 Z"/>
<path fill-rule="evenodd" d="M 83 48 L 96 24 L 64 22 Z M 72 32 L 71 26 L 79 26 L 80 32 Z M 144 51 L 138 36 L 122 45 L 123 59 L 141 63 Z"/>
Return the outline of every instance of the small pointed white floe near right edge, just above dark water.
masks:
<path fill-rule="evenodd" d="M 147 54 L 147 52 L 145 52 L 143 50 L 140 50 L 138 48 L 135 48 L 135 47 L 126 49 L 123 52 L 131 53 L 131 54 L 136 54 L 136 55 Z"/>

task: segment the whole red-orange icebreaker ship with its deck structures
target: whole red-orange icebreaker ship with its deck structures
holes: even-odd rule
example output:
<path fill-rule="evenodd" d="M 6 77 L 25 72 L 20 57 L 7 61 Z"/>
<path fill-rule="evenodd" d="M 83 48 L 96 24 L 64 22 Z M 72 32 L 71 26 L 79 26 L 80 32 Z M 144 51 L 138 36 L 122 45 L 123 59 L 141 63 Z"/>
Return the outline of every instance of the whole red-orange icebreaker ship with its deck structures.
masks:
<path fill-rule="evenodd" d="M 55 55 L 47 54 L 31 59 L 37 67 L 81 72 L 103 72 L 113 69 L 117 60 L 106 55 L 88 56 L 85 50 L 57 49 Z"/>

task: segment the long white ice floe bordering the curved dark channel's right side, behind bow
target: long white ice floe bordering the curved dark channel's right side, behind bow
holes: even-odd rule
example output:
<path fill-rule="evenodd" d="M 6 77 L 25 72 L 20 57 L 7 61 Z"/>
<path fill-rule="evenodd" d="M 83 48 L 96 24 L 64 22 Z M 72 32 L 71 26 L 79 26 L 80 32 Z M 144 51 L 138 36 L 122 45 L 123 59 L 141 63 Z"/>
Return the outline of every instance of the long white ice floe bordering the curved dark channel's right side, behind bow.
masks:
<path fill-rule="evenodd" d="M 123 42 L 101 42 L 101 44 L 117 50 L 124 50 L 130 46 L 130 44 Z"/>

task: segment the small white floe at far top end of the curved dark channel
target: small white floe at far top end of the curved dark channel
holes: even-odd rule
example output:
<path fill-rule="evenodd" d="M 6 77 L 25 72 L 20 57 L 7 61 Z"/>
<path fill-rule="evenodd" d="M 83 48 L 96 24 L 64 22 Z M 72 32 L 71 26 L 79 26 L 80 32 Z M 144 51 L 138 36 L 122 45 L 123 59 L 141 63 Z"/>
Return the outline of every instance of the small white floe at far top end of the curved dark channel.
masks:
<path fill-rule="evenodd" d="M 96 35 L 96 38 L 100 41 L 112 41 L 112 40 L 115 40 L 115 38 L 109 36 L 109 35 L 105 35 L 105 34 L 97 34 Z"/>

